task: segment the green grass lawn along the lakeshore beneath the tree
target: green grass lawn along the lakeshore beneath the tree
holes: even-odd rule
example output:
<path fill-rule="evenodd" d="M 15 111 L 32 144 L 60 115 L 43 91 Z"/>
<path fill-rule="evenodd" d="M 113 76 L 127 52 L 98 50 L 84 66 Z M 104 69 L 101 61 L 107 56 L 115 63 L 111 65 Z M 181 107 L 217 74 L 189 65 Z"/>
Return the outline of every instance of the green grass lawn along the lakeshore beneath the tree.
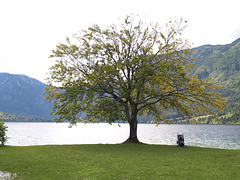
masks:
<path fill-rule="evenodd" d="M 240 150 L 146 144 L 0 147 L 16 179 L 240 179 Z"/>

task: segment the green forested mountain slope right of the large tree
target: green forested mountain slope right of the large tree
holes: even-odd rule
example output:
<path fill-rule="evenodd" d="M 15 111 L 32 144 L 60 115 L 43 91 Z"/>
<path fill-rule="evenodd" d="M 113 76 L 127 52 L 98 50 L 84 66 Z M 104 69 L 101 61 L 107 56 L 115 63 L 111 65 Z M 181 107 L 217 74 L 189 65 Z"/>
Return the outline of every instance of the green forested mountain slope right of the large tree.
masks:
<path fill-rule="evenodd" d="M 211 78 L 222 88 L 222 97 L 227 98 L 219 119 L 224 123 L 240 122 L 240 38 L 226 45 L 205 45 L 196 48 L 196 72 L 200 79 Z"/>

